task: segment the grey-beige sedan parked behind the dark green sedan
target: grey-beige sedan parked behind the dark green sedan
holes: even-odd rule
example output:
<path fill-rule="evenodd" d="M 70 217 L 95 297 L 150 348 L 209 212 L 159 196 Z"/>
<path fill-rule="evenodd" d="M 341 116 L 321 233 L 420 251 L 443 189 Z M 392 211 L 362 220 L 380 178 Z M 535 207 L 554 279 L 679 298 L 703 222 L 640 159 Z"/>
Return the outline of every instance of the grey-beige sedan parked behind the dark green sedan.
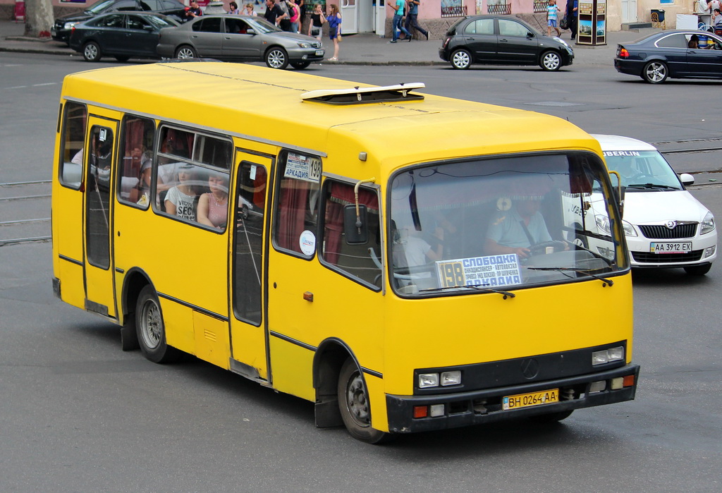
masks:
<path fill-rule="evenodd" d="M 258 17 L 204 15 L 180 27 L 160 30 L 158 54 L 164 58 L 216 58 L 265 61 L 271 69 L 305 69 L 323 60 L 321 41 L 285 32 Z"/>

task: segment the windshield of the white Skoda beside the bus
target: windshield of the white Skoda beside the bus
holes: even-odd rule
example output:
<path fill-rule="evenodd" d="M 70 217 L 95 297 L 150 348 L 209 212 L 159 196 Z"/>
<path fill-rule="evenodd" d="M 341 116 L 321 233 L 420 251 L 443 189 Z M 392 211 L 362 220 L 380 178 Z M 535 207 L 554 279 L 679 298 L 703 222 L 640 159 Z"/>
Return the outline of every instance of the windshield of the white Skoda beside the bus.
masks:
<path fill-rule="evenodd" d="M 658 151 L 604 151 L 610 170 L 629 191 L 682 190 L 679 178 Z"/>

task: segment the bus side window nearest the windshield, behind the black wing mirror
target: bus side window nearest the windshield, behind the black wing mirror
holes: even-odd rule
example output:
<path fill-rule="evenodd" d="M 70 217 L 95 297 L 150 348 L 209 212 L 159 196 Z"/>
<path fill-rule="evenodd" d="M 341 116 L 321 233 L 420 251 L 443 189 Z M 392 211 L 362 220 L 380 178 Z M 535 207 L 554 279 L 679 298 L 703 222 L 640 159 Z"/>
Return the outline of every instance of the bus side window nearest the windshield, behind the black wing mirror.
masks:
<path fill-rule="evenodd" d="M 354 187 L 347 183 L 326 180 L 323 186 L 323 263 L 381 287 L 381 238 L 378 219 L 378 196 L 369 188 L 359 189 L 359 204 L 367 209 L 368 240 L 349 245 L 344 235 L 344 206 L 355 204 Z"/>

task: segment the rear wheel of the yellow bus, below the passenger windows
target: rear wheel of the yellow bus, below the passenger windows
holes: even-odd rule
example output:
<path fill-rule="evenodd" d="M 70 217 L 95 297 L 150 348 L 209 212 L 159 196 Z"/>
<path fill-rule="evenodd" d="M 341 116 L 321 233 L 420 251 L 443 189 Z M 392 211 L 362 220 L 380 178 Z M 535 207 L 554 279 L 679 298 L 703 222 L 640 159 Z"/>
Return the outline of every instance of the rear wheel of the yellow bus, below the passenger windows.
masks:
<path fill-rule="evenodd" d="M 178 359 L 178 349 L 165 342 L 165 323 L 160 302 L 151 285 L 144 287 L 136 304 L 136 331 L 143 356 L 154 363 L 168 363 Z"/>

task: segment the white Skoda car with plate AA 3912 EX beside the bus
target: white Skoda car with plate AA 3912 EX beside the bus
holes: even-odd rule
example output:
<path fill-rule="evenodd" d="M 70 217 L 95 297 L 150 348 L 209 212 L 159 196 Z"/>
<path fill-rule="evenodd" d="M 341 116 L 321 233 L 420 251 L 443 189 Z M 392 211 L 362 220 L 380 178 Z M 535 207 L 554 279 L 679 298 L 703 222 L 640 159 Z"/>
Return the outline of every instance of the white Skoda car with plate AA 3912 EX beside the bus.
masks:
<path fill-rule="evenodd" d="M 682 267 L 707 274 L 717 258 L 712 213 L 688 192 L 695 178 L 679 177 L 658 150 L 646 142 L 594 135 L 609 170 L 626 188 L 623 225 L 632 267 Z M 612 179 L 614 181 L 614 179 Z M 603 229 L 604 224 L 598 224 Z"/>

